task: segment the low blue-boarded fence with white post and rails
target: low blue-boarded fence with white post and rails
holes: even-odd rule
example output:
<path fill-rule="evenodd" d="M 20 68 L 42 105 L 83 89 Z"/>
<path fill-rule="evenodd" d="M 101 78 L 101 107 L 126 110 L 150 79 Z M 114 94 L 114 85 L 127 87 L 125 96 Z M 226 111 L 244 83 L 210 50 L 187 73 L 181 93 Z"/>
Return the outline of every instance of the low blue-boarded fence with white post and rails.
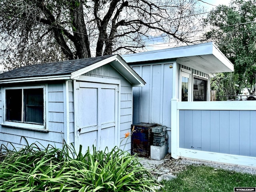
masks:
<path fill-rule="evenodd" d="M 255 119 L 254 100 L 172 99 L 172 157 L 256 166 Z"/>

